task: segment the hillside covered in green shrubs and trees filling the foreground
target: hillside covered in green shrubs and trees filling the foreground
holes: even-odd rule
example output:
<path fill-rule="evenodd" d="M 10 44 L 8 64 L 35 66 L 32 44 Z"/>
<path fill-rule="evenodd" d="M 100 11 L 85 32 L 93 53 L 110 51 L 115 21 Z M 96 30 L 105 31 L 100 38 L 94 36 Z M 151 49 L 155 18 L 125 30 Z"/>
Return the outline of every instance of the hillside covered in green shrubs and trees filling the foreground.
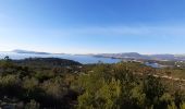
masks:
<path fill-rule="evenodd" d="M 185 70 L 55 58 L 0 60 L 2 109 L 185 109 Z"/>

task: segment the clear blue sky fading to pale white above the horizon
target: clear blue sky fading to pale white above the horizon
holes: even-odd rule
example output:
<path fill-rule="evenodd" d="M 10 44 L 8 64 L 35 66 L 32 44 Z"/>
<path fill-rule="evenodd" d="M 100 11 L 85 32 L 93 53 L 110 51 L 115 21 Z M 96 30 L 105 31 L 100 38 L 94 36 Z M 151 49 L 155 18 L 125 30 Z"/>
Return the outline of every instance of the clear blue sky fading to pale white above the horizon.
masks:
<path fill-rule="evenodd" d="M 0 51 L 185 53 L 185 0 L 0 0 Z"/>

